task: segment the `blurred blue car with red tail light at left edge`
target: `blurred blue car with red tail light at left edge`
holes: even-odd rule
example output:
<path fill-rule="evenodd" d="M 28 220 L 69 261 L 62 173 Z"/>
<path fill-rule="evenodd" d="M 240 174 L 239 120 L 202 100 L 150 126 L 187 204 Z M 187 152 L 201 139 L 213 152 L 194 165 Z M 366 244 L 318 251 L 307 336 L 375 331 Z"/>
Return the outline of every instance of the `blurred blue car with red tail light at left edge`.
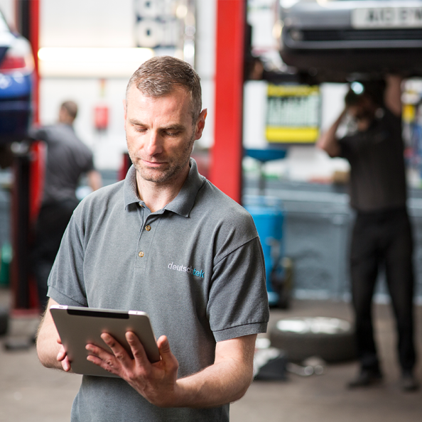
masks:
<path fill-rule="evenodd" d="M 33 72 L 30 43 L 10 30 L 0 12 L 0 146 L 28 134 Z"/>

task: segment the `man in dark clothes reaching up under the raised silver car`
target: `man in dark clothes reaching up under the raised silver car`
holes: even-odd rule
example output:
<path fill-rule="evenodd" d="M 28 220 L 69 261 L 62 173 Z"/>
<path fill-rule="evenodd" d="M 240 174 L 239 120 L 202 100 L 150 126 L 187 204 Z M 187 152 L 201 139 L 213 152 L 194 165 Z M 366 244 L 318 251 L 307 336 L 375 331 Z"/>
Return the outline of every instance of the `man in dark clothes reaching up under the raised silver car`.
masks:
<path fill-rule="evenodd" d="M 401 137 L 401 78 L 386 77 L 384 104 L 377 86 L 368 84 L 346 96 L 346 108 L 321 136 L 318 146 L 350 162 L 350 202 L 357 216 L 350 249 L 352 304 L 355 310 L 360 371 L 350 387 L 382 379 L 372 326 L 372 296 L 380 266 L 396 317 L 401 387 L 418 388 L 413 376 L 413 266 L 411 224 L 406 210 L 404 144 Z M 346 114 L 355 134 L 338 139 Z"/>

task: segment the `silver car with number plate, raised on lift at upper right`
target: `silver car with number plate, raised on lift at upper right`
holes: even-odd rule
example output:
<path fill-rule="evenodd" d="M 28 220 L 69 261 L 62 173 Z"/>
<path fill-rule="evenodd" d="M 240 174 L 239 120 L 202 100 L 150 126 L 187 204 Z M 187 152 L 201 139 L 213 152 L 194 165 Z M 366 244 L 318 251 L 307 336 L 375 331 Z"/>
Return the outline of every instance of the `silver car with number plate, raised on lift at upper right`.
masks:
<path fill-rule="evenodd" d="M 422 75 L 422 0 L 278 0 L 280 54 L 313 82 Z"/>

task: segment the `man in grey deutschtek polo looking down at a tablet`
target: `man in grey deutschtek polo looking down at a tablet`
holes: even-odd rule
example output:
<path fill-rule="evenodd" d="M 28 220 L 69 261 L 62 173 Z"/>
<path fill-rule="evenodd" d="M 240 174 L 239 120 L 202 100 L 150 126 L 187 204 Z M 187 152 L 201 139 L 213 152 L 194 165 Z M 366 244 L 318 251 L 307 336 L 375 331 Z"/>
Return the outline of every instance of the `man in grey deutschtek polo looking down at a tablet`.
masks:
<path fill-rule="evenodd" d="M 121 379 L 83 377 L 72 421 L 228 421 L 251 382 L 269 318 L 264 257 L 251 216 L 198 174 L 205 126 L 200 79 L 182 60 L 148 60 L 129 80 L 126 179 L 83 200 L 49 278 L 49 305 L 144 310 L 161 361 L 134 359 L 109 335 L 91 362 Z M 70 370 L 50 313 L 38 335 L 46 367 Z"/>

